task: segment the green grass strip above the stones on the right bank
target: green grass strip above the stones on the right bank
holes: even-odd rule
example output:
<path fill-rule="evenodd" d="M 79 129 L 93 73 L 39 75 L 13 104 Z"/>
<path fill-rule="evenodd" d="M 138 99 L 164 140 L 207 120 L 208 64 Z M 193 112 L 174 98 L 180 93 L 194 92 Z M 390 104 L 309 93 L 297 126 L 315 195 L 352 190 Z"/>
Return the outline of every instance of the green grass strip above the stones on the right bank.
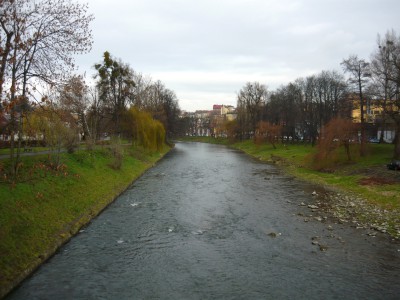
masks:
<path fill-rule="evenodd" d="M 278 144 L 277 149 L 273 149 L 269 144 L 257 146 L 252 141 L 244 141 L 232 146 L 263 161 L 279 163 L 281 159 L 284 168 L 300 179 L 357 194 L 384 209 L 400 208 L 399 183 L 369 186 L 360 184 L 360 179 L 376 176 L 376 173 L 392 179 L 398 178 L 397 172 L 386 172 L 386 164 L 393 155 L 393 145 L 371 144 L 368 156 L 357 157 L 351 162 L 344 161 L 331 172 L 320 172 L 312 168 L 312 156 L 317 149 L 310 145 Z"/>

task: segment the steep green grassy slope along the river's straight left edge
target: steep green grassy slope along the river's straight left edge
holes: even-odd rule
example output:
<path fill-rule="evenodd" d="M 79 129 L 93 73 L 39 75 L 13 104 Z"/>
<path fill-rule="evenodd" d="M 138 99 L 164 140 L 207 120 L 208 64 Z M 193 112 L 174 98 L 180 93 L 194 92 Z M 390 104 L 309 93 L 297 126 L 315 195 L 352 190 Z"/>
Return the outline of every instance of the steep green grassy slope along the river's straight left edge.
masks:
<path fill-rule="evenodd" d="M 23 157 L 21 182 L 0 183 L 0 298 L 168 151 L 126 146 L 120 169 L 107 148 L 63 153 L 59 168 Z"/>

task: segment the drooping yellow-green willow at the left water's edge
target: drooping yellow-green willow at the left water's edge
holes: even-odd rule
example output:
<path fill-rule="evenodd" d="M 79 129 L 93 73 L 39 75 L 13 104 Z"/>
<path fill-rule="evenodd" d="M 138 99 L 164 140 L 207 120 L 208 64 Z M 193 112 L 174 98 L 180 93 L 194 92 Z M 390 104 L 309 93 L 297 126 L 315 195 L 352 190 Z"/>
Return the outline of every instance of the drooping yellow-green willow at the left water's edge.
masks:
<path fill-rule="evenodd" d="M 151 151 L 161 150 L 165 140 L 165 129 L 145 111 L 132 107 L 128 111 L 128 127 L 133 142 Z"/>

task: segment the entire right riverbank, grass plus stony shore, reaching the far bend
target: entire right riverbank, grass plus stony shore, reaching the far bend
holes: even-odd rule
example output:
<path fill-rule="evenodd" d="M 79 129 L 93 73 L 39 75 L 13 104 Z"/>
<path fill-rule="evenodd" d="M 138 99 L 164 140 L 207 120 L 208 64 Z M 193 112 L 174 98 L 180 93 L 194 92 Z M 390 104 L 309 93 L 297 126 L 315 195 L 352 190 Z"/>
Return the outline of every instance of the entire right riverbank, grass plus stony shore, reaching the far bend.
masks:
<path fill-rule="evenodd" d="M 400 239 L 400 172 L 386 168 L 393 145 L 371 144 L 367 157 L 316 171 L 311 163 L 316 148 L 311 145 L 278 144 L 274 149 L 270 144 L 255 145 L 252 141 L 229 143 L 210 137 L 186 140 L 228 145 L 278 165 L 299 180 L 321 186 L 311 204 L 314 211 L 323 210 L 338 223 L 365 228 L 371 236 L 379 231 Z"/>

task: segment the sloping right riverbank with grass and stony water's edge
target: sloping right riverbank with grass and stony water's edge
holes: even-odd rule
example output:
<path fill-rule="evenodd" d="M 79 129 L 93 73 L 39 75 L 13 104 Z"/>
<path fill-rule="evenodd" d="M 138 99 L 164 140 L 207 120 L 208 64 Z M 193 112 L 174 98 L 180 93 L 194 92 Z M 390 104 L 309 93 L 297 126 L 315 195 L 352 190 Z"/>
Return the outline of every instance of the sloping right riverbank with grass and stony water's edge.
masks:
<path fill-rule="evenodd" d="M 261 161 L 276 164 L 299 180 L 319 185 L 321 191 L 315 193 L 315 203 L 303 204 L 311 207 L 314 213 L 329 213 L 337 223 L 348 223 L 357 229 L 365 229 L 367 235 L 371 237 L 380 232 L 393 240 L 400 240 L 400 194 L 398 192 L 400 179 L 398 174 L 388 173 L 383 165 L 368 168 L 353 166 L 351 174 L 343 170 L 326 174 L 304 166 L 304 149 L 306 149 L 304 146 L 300 146 L 302 147 L 300 152 L 293 151 L 293 154 L 283 156 L 272 148 L 266 151 L 265 147 L 258 147 L 249 142 L 230 146 Z M 295 148 L 295 146 L 289 148 Z M 377 173 L 380 175 L 378 176 Z M 388 176 L 391 177 L 390 180 Z M 389 191 L 388 185 L 363 186 L 362 183 L 371 178 L 374 178 L 374 182 L 390 182 L 391 190 Z M 345 183 L 346 181 L 350 184 Z M 319 217 L 314 219 L 323 221 Z"/>

